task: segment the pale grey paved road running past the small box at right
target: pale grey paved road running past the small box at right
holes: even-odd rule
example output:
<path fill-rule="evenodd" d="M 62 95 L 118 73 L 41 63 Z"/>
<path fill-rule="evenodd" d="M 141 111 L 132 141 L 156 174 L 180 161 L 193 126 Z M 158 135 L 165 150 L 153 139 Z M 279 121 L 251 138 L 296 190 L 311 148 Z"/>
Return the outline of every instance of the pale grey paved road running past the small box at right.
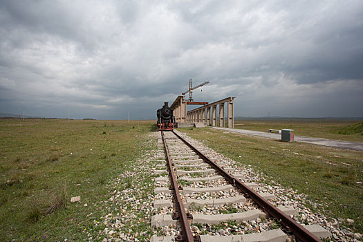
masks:
<path fill-rule="evenodd" d="M 245 133 L 250 136 L 261 136 L 265 138 L 272 138 L 276 140 L 281 140 L 281 133 L 267 133 L 260 131 L 252 131 L 247 129 L 229 129 L 229 128 L 220 128 L 220 127 L 212 127 L 214 129 L 223 129 L 226 131 L 231 131 L 234 133 Z M 337 147 L 343 149 L 354 149 L 357 151 L 363 151 L 363 143 L 361 142 L 348 142 L 342 140 L 328 140 L 324 138 L 313 138 L 313 137 L 304 137 L 304 136 L 294 136 L 294 140 L 297 142 L 305 142 L 315 145 L 325 145 L 329 147 Z"/>

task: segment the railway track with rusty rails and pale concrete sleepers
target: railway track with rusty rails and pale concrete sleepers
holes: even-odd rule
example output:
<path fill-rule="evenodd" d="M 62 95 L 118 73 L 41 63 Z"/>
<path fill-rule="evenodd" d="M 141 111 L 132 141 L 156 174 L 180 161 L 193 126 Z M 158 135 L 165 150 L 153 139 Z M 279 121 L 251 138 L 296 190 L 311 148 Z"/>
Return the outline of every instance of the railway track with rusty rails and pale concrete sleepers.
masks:
<path fill-rule="evenodd" d="M 297 210 L 274 206 L 273 195 L 249 183 L 241 169 L 176 131 L 159 132 L 158 160 L 158 213 L 151 225 L 173 233 L 151 241 L 321 241 L 331 235 L 320 225 L 297 223 Z"/>

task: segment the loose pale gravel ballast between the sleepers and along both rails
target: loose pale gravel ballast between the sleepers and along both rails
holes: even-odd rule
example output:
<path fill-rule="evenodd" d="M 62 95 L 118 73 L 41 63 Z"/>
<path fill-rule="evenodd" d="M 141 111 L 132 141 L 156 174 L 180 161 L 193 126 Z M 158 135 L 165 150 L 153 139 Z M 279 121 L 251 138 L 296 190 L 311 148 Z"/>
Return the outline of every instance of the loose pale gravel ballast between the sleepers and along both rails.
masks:
<path fill-rule="evenodd" d="M 216 153 L 212 149 L 205 147 L 201 142 L 187 138 L 185 134 L 180 133 L 180 136 L 186 138 L 188 142 L 191 142 L 198 149 L 202 149 L 203 153 L 207 154 L 210 158 L 214 158 L 218 162 L 223 162 L 224 167 L 233 168 L 230 173 L 237 173 L 244 176 L 241 180 L 244 183 L 256 183 L 257 192 L 268 192 L 274 195 L 274 198 L 269 201 L 274 205 L 290 206 L 299 212 L 298 215 L 291 215 L 296 221 L 303 225 L 318 224 L 324 227 L 326 230 L 333 234 L 333 239 L 336 241 L 362 241 L 360 234 L 353 234 L 347 228 L 341 227 L 340 218 L 328 218 L 324 214 L 328 214 L 324 211 L 324 204 L 313 203 L 308 201 L 305 194 L 298 194 L 297 191 L 282 187 L 274 180 L 269 180 L 269 184 L 264 183 L 266 178 L 265 174 L 254 171 L 251 166 L 243 166 L 234 160 L 225 158 L 220 153 Z M 171 200 L 170 192 L 162 192 L 155 194 L 154 189 L 156 187 L 169 187 L 169 180 L 159 179 L 160 175 L 155 174 L 156 165 L 162 165 L 165 162 L 165 153 L 162 149 L 162 142 L 160 142 L 160 134 L 152 133 L 148 137 L 148 142 L 145 142 L 144 146 L 148 147 L 146 151 L 138 161 L 131 165 L 129 171 L 125 171 L 120 174 L 119 178 L 115 178 L 110 181 L 107 186 L 110 189 L 110 197 L 106 201 L 100 201 L 94 204 L 99 210 L 104 210 L 104 216 L 95 219 L 94 229 L 87 231 L 89 235 L 89 241 L 149 241 L 152 236 L 176 236 L 180 233 L 178 224 L 151 227 L 151 217 L 154 214 L 171 214 L 173 207 L 154 207 L 153 202 L 158 200 Z M 178 144 L 178 141 L 174 141 Z M 176 147 L 176 145 L 174 145 Z M 187 155 L 185 149 L 173 150 L 177 153 L 178 159 L 183 157 L 183 152 Z M 193 157 L 194 158 L 194 157 Z M 198 161 L 199 162 L 199 161 Z M 197 165 L 198 162 L 193 162 L 188 165 Z M 167 171 L 166 167 L 162 168 Z M 198 168 L 199 169 L 199 168 Z M 207 169 L 203 167 L 203 169 Z M 164 174 L 165 175 L 165 174 Z M 203 178 L 213 177 L 216 174 L 201 174 L 191 176 L 190 174 L 180 175 L 180 178 Z M 243 177 L 242 176 L 242 177 Z M 226 185 L 224 180 L 201 180 L 191 181 L 185 184 L 185 187 L 216 187 Z M 241 196 L 241 192 L 232 188 L 223 192 L 212 193 L 189 193 L 182 194 L 183 199 L 218 199 L 228 198 L 231 196 Z M 322 211 L 321 214 L 312 212 L 308 207 L 316 207 L 317 210 Z M 189 212 L 194 214 L 223 214 L 230 212 L 246 212 L 256 209 L 256 206 L 247 199 L 245 202 L 233 203 L 231 205 L 221 206 L 203 206 L 196 207 L 191 206 L 188 208 Z M 234 222 L 229 221 L 217 225 L 212 224 L 196 224 L 192 225 L 192 231 L 201 235 L 218 235 L 227 236 L 232 234 L 250 234 L 261 233 L 269 230 L 279 228 L 279 224 L 274 219 L 257 218 L 254 221 L 246 222 Z M 330 239 L 328 239 L 330 240 Z"/>

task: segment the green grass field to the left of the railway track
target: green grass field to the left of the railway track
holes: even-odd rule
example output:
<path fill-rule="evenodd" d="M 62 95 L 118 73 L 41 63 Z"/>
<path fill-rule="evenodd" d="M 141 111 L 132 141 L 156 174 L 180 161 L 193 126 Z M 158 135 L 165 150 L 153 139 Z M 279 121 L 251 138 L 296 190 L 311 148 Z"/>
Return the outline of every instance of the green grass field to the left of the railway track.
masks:
<path fill-rule="evenodd" d="M 0 241 L 86 240 L 84 229 L 104 212 L 93 204 L 109 197 L 106 184 L 130 169 L 155 130 L 153 122 L 1 120 Z"/>

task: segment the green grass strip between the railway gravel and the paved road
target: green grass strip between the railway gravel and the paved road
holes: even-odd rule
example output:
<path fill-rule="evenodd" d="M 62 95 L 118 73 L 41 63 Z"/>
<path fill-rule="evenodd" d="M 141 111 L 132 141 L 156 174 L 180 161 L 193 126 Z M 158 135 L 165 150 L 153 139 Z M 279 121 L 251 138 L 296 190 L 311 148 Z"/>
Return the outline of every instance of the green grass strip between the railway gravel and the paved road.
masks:
<path fill-rule="evenodd" d="M 362 151 L 281 142 L 210 128 L 180 131 L 203 140 L 241 165 L 252 165 L 285 187 L 307 194 L 310 201 L 326 205 L 328 216 L 353 219 L 353 225 L 346 225 L 363 231 Z"/>

